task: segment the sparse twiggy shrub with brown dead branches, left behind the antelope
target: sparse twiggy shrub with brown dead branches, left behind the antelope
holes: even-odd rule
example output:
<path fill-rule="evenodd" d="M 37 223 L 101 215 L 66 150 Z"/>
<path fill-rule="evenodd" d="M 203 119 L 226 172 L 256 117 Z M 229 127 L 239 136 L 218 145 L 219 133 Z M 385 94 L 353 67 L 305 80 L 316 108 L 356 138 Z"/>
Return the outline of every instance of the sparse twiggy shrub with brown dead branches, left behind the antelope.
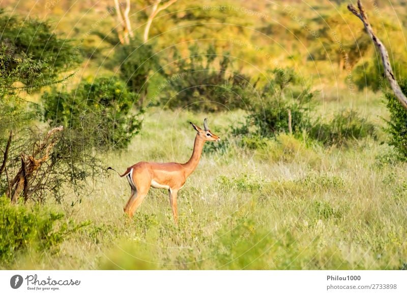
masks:
<path fill-rule="evenodd" d="M 10 196 L 15 193 L 13 201 L 24 196 L 24 202 L 44 203 L 50 194 L 56 202 L 61 202 L 65 194 L 73 192 L 77 200 L 71 205 L 80 203 L 82 196 L 93 190 L 92 184 L 101 174 L 100 160 L 83 144 L 83 135 L 71 129 L 26 127 L 19 130 L 8 152 L 5 166 L 8 175 L 0 173 L 0 195 L 10 187 Z M 20 181 L 13 181 L 20 179 L 23 162 L 24 190 L 20 189 Z"/>

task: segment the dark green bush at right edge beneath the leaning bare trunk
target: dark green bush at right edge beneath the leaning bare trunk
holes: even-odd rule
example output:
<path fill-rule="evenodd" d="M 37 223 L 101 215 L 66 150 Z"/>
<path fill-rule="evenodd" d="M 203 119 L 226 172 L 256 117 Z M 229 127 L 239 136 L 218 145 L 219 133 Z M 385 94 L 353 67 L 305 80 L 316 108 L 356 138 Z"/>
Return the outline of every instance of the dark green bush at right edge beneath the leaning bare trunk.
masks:
<path fill-rule="evenodd" d="M 407 94 L 407 80 L 400 82 L 401 90 Z M 386 94 L 387 109 L 390 120 L 387 121 L 386 131 L 391 135 L 389 144 L 399 154 L 402 160 L 407 160 L 407 111 L 401 106 L 393 93 Z"/>

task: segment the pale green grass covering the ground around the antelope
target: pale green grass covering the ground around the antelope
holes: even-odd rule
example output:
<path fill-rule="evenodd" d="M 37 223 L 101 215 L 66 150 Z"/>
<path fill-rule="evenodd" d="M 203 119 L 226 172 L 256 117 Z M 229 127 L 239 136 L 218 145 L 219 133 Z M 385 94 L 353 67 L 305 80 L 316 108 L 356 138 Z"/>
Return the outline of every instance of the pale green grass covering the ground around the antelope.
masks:
<path fill-rule="evenodd" d="M 211 130 L 225 138 L 241 115 L 209 115 Z M 204 117 L 152 109 L 128 150 L 105 155 L 106 166 L 184 162 L 195 134 L 188 122 Z M 401 269 L 407 170 L 388 163 L 388 153 L 372 139 L 324 149 L 283 136 L 268 153 L 232 144 L 203 155 L 179 193 L 178 227 L 162 189 L 150 190 L 134 218 L 125 216 L 130 187 L 110 171 L 81 204 L 48 205 L 91 225 L 59 253 L 30 253 L 10 268 Z"/>

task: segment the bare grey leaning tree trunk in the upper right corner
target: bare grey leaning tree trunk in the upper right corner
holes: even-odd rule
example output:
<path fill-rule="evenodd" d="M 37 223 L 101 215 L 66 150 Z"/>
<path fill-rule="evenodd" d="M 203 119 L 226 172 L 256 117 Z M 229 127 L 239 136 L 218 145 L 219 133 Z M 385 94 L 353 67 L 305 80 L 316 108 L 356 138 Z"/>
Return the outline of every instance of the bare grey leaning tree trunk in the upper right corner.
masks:
<path fill-rule="evenodd" d="M 349 4 L 347 6 L 347 9 L 354 15 L 359 17 L 359 19 L 363 22 L 367 34 L 369 35 L 377 49 L 379 49 L 380 55 L 382 56 L 383 67 L 385 69 L 386 78 L 390 83 L 391 89 L 393 90 L 394 94 L 396 95 L 398 101 L 403 106 L 403 108 L 407 110 L 407 97 L 401 91 L 401 88 L 398 85 L 396 78 L 394 77 L 393 70 L 390 64 L 389 53 L 387 52 L 386 47 L 383 45 L 383 43 L 374 34 L 373 29 L 369 23 L 369 20 L 367 19 L 367 15 L 363 9 L 361 1 L 358 0 L 359 11 L 352 4 Z"/>

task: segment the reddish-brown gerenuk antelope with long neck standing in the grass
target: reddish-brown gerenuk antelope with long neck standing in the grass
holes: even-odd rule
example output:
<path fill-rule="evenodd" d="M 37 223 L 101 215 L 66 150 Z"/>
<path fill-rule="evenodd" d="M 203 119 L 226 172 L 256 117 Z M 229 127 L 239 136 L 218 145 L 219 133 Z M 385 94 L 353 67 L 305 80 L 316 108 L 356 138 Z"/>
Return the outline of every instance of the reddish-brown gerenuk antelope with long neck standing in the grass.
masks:
<path fill-rule="evenodd" d="M 172 215 L 175 223 L 178 223 L 177 194 L 184 186 L 188 176 L 196 169 L 202 153 L 203 144 L 207 141 L 220 141 L 220 138 L 214 135 L 208 128 L 207 119 L 203 120 L 203 130 L 190 122 L 196 130 L 194 149 L 192 156 L 186 163 L 156 163 L 156 162 L 138 162 L 127 168 L 121 177 L 126 176 L 131 187 L 130 199 L 124 207 L 124 211 L 132 217 L 134 211 L 140 206 L 146 198 L 150 187 L 165 188 L 169 194 L 169 204 L 171 205 Z M 111 167 L 107 170 L 114 170 Z M 114 170 L 115 171 L 115 170 Z"/>

